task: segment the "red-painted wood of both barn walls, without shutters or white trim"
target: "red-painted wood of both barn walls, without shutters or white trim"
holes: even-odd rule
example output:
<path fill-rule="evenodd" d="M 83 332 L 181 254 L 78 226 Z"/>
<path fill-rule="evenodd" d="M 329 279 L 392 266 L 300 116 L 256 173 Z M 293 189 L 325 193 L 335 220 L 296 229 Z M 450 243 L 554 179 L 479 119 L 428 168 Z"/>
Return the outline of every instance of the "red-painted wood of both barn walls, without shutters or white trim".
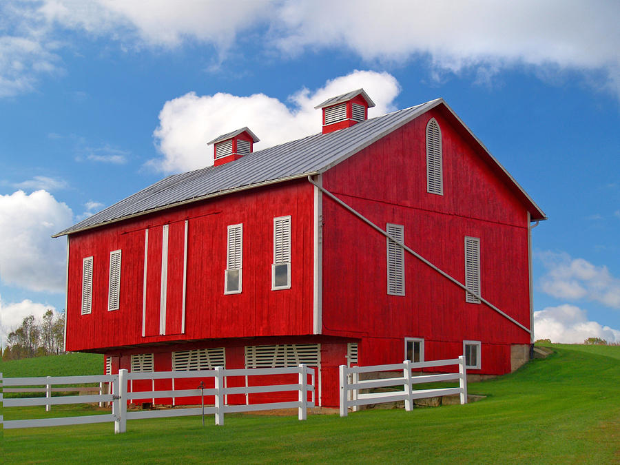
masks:
<path fill-rule="evenodd" d="M 425 130 L 433 117 L 442 131 L 442 196 L 426 192 Z M 528 209 L 534 219 L 539 213 L 445 107 L 435 107 L 329 169 L 322 183 L 376 225 L 404 225 L 406 245 L 461 282 L 464 238 L 480 238 L 482 295 L 529 327 Z M 408 337 L 424 338 L 426 360 L 455 358 L 462 354 L 463 340 L 479 340 L 482 369 L 474 372 L 510 371 L 510 346 L 528 344 L 526 331 L 485 304 L 466 303 L 463 289 L 409 254 L 406 296 L 388 296 L 385 237 L 326 196 L 322 324 L 321 334 L 313 335 L 313 195 L 307 180 L 295 180 L 72 234 L 67 349 L 105 352 L 112 356 L 116 373 L 130 369 L 132 353 L 154 353 L 155 369 L 168 371 L 172 351 L 225 347 L 227 368 L 243 368 L 248 345 L 319 343 L 320 386 L 318 374 L 316 380 L 323 405 L 338 404 L 338 366 L 347 363 L 347 342 L 358 343 L 359 364 L 369 365 L 401 362 Z M 273 218 L 286 215 L 292 222 L 291 289 L 271 291 Z M 186 220 L 187 295 L 181 333 Z M 238 223 L 243 224 L 242 293 L 227 296 L 227 225 Z M 166 333 L 161 335 L 164 225 L 169 241 Z M 107 311 L 109 254 L 115 249 L 123 250 L 121 308 Z M 82 316 L 82 260 L 91 255 L 92 314 Z M 175 388 L 196 385 L 196 380 L 178 380 Z M 169 389 L 163 381 L 156 386 Z M 250 400 L 266 398 L 252 395 Z M 292 400 L 296 394 L 275 398 Z M 198 400 L 178 400 L 183 402 Z M 245 396 L 230 396 L 229 402 L 245 402 Z"/>

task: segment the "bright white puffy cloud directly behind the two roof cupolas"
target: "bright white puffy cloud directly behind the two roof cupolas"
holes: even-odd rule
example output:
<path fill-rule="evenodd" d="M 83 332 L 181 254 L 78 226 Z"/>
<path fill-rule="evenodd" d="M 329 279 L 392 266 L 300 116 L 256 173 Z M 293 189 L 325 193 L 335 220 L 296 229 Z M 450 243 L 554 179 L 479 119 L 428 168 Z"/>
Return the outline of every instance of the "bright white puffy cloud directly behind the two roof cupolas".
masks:
<path fill-rule="evenodd" d="M 149 165 L 162 172 L 213 165 L 213 147 L 207 147 L 207 142 L 245 126 L 260 138 L 256 150 L 316 134 L 321 130 L 321 112 L 314 107 L 329 97 L 360 87 L 377 105 L 369 110 L 369 117 L 394 110 L 400 86 L 386 72 L 356 70 L 327 81 L 313 92 L 304 88 L 289 97 L 292 109 L 265 94 L 198 96 L 189 92 L 164 104 L 154 132 L 163 157 Z"/>

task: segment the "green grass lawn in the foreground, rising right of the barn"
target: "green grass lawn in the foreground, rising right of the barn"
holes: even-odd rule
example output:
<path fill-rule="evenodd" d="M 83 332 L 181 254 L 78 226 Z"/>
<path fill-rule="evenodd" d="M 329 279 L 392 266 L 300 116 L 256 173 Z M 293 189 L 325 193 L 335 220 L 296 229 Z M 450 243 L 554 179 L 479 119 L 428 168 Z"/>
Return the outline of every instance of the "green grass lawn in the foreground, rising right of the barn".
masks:
<path fill-rule="evenodd" d="M 112 424 L 8 430 L 5 462 L 620 463 L 620 347 L 551 347 L 546 360 L 470 384 L 488 397 L 465 406 L 306 422 L 226 415 L 220 427 L 209 415 L 204 428 L 199 417 L 134 420 L 122 435 Z"/>

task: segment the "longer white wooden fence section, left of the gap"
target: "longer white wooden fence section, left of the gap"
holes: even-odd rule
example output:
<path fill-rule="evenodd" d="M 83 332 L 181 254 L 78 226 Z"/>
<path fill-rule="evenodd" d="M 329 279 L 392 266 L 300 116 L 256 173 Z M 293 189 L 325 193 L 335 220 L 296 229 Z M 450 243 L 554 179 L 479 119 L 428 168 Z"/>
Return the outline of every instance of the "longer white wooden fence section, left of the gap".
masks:
<path fill-rule="evenodd" d="M 239 386 L 225 387 L 226 378 L 251 377 L 266 375 L 298 375 L 296 384 L 269 384 L 262 386 Z M 197 389 L 172 389 L 169 391 L 127 391 L 127 384 L 132 380 L 172 380 L 180 378 L 192 378 L 203 381 L 214 379 L 213 388 Z M 310 380 L 309 380 L 310 378 Z M 37 386 L 45 385 L 46 394 L 50 393 L 50 386 L 54 384 L 79 384 L 79 383 L 112 383 L 112 393 L 99 395 L 67 395 L 59 397 L 28 397 L 3 399 L 0 393 L 0 401 L 4 407 L 36 406 L 36 405 L 59 405 L 59 404 L 90 404 L 94 402 L 112 402 L 112 413 L 103 415 L 85 415 L 81 417 L 44 418 L 35 420 L 3 420 L 0 422 L 5 429 L 33 428 L 37 426 L 61 426 L 70 424 L 87 424 L 114 422 L 114 433 L 127 431 L 127 420 L 143 418 L 180 417 L 187 415 L 215 415 L 216 425 L 224 424 L 225 413 L 248 412 L 258 410 L 298 409 L 299 420 L 306 420 L 307 409 L 315 406 L 315 375 L 314 370 L 305 364 L 292 368 L 264 368 L 264 369 L 224 369 L 217 366 L 214 370 L 204 371 L 160 371 L 151 373 L 130 373 L 121 369 L 118 375 L 90 375 L 90 376 L 62 376 L 41 378 L 3 378 L 0 373 L 0 386 Z M 63 390 L 59 388 L 59 390 Z M 250 393 L 279 393 L 285 391 L 298 391 L 298 400 L 291 402 L 269 402 L 263 404 L 227 404 L 227 396 L 234 394 Z M 309 394 L 311 400 L 308 400 Z M 149 411 L 127 411 L 127 402 L 136 399 L 166 398 L 166 397 L 201 397 L 214 396 L 214 406 L 201 406 L 187 409 L 158 409 Z"/>

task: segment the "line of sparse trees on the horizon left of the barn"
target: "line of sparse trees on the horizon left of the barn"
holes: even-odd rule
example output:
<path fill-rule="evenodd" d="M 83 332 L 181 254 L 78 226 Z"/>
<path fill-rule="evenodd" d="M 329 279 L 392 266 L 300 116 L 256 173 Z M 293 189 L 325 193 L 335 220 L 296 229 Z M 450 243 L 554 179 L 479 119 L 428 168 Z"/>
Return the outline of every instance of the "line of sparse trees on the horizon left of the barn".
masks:
<path fill-rule="evenodd" d="M 34 315 L 25 317 L 21 326 L 8 333 L 2 360 L 57 355 L 65 351 L 65 314 L 54 316 L 54 311 L 45 311 L 41 320 Z"/>

